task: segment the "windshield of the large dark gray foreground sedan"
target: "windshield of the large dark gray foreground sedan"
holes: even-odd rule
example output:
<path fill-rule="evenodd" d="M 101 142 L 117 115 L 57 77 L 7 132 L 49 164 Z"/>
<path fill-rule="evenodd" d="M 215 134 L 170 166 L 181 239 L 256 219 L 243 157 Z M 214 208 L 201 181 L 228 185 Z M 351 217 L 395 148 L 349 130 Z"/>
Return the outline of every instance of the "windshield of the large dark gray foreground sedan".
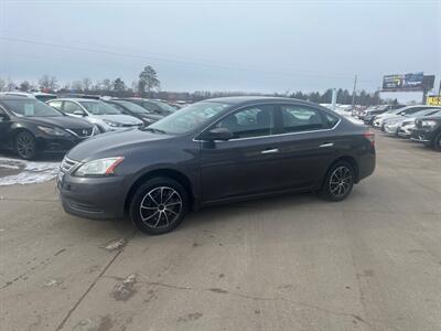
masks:
<path fill-rule="evenodd" d="M 209 118 L 216 116 L 228 106 L 228 104 L 201 102 L 164 117 L 147 129 L 151 128 L 171 135 L 190 132 L 198 126 L 206 124 Z"/>

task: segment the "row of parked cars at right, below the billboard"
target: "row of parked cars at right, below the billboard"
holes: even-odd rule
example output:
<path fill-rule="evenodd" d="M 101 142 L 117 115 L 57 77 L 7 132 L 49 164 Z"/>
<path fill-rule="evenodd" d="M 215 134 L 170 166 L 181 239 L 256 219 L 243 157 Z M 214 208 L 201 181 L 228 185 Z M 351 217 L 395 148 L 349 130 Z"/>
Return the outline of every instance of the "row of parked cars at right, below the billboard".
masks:
<path fill-rule="evenodd" d="M 441 106 L 380 105 L 354 110 L 352 115 L 389 136 L 408 138 L 441 151 Z"/>

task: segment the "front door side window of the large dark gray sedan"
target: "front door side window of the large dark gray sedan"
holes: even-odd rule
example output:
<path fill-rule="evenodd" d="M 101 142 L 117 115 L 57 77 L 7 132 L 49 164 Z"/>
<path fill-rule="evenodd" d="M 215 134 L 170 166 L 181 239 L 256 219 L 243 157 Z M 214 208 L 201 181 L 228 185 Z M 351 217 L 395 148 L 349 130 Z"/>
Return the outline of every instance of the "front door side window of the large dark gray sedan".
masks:
<path fill-rule="evenodd" d="M 219 122 L 217 128 L 227 128 L 233 138 L 269 136 L 275 132 L 273 106 L 252 106 L 230 114 Z"/>

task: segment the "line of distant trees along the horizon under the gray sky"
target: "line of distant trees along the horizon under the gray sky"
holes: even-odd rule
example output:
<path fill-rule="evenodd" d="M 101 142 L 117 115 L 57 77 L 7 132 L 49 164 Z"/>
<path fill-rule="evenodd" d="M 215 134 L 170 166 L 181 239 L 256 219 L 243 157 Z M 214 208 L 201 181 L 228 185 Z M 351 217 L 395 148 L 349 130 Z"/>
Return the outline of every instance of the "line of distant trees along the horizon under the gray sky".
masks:
<path fill-rule="evenodd" d="M 58 93 L 58 94 L 90 94 L 90 95 L 103 95 L 111 97 L 149 97 L 165 100 L 187 100 L 187 102 L 200 102 L 207 98 L 225 97 L 225 96 L 246 96 L 246 95 L 267 95 L 267 96 L 282 96 L 290 98 L 298 98 L 302 100 L 309 100 L 316 104 L 331 104 L 332 102 L 332 89 L 329 88 L 325 92 L 309 92 L 304 93 L 301 90 L 294 93 L 273 93 L 273 94 L 256 94 L 256 93 L 244 93 L 244 92 L 211 92 L 211 90 L 196 90 L 190 92 L 165 92 L 161 90 L 161 82 L 158 78 L 155 70 L 147 65 L 138 76 L 137 81 L 131 82 L 127 85 L 121 77 L 115 79 L 105 78 L 101 81 L 94 82 L 93 79 L 85 77 L 79 81 L 73 81 L 65 84 L 58 84 L 55 76 L 43 75 L 39 78 L 37 83 L 31 83 L 23 81 L 15 83 L 12 79 L 2 79 L 0 77 L 0 92 L 1 90 L 20 90 L 20 92 L 46 92 L 46 93 Z M 338 88 L 336 94 L 336 103 L 349 105 L 352 104 L 352 93 L 347 89 Z M 369 93 L 361 90 L 355 94 L 355 104 L 362 106 L 379 105 L 385 103 L 397 103 L 395 100 L 384 100 L 379 96 L 379 92 Z"/>

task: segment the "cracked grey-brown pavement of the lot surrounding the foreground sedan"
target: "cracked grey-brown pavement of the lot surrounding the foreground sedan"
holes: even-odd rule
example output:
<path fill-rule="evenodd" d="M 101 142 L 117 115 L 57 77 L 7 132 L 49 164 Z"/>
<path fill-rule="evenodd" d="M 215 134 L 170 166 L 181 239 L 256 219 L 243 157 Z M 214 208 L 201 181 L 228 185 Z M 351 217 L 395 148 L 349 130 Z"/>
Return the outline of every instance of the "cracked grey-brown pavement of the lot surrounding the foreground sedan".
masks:
<path fill-rule="evenodd" d="M 440 330 L 441 154 L 377 135 L 341 203 L 207 209 L 146 236 L 0 186 L 1 330 Z"/>

